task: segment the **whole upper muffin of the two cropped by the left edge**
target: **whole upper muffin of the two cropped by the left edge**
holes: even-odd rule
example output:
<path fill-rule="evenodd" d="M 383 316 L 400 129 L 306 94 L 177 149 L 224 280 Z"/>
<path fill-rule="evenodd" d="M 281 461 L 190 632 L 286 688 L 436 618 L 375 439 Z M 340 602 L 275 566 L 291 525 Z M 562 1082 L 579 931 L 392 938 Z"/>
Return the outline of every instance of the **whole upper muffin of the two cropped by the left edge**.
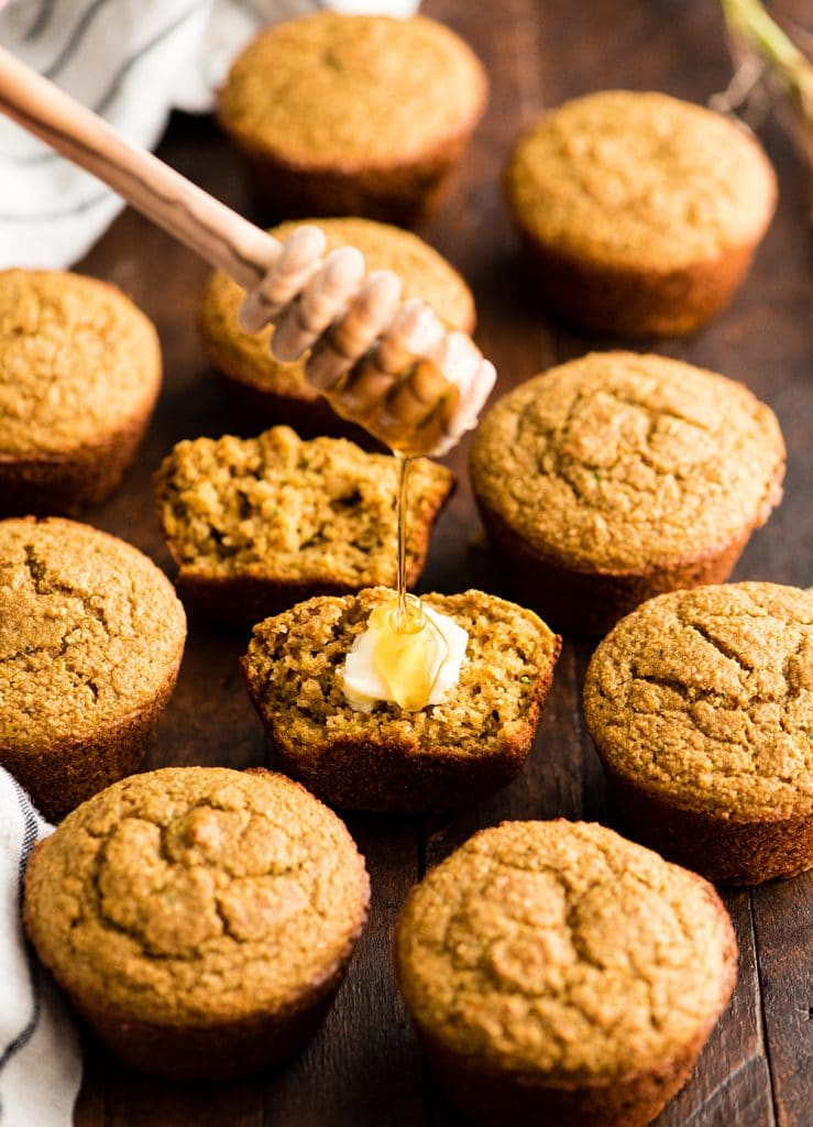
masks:
<path fill-rule="evenodd" d="M 0 272 L 0 513 L 72 512 L 118 485 L 161 385 L 152 323 L 79 274 Z"/>

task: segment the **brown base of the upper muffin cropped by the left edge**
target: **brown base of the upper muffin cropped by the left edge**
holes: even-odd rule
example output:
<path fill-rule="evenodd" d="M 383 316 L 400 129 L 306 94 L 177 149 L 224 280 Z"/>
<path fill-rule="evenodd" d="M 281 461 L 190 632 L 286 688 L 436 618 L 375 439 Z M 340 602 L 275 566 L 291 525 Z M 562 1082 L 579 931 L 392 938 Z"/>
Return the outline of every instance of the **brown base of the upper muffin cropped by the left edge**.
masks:
<path fill-rule="evenodd" d="M 104 500 L 135 458 L 153 406 L 102 441 L 73 451 L 33 458 L 0 453 L 0 515 L 73 514 Z"/>

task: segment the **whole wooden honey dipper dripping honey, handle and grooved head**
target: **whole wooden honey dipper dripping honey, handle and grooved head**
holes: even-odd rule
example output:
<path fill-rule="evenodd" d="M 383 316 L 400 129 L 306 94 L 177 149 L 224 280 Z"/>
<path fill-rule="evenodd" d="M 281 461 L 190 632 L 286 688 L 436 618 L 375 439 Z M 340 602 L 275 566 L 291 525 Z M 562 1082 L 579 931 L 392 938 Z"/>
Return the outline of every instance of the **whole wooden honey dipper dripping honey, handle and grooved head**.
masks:
<path fill-rule="evenodd" d="M 310 349 L 306 376 L 343 418 L 408 455 L 443 454 L 476 423 L 493 365 L 426 302 L 402 303 L 393 272 L 366 275 L 352 247 L 325 257 L 316 227 L 279 242 L 2 48 L 0 109 L 230 274 L 242 327 L 273 321 L 278 360 Z"/>

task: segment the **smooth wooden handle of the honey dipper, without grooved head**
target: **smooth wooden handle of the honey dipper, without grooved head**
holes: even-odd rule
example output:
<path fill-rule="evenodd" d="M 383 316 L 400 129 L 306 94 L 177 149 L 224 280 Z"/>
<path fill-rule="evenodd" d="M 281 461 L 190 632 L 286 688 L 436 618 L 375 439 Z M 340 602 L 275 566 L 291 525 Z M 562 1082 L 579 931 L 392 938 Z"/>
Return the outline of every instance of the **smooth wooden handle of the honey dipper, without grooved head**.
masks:
<path fill-rule="evenodd" d="M 249 290 L 280 245 L 0 47 L 0 109 Z"/>

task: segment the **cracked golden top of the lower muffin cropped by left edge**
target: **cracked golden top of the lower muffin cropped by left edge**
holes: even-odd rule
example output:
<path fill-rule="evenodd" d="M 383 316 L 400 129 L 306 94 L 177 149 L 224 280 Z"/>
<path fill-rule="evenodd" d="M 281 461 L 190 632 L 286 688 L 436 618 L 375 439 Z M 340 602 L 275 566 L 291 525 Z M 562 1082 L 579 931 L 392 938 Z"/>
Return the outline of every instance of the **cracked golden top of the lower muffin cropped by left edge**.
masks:
<path fill-rule="evenodd" d="M 172 585 L 73 521 L 0 521 L 0 747 L 47 749 L 149 706 L 184 651 Z"/>

